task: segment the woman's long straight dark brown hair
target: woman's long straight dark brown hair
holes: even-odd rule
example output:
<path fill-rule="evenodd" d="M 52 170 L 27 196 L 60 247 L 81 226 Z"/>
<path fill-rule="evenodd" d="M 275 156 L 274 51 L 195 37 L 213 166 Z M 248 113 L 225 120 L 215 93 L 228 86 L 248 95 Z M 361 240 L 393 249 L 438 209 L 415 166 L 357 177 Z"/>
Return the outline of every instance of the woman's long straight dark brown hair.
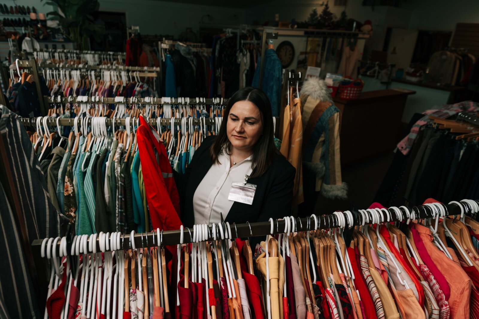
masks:
<path fill-rule="evenodd" d="M 263 126 L 263 133 L 253 146 L 253 153 L 251 154 L 253 172 L 251 177 L 262 176 L 266 170 L 273 164 L 274 154 L 277 149 L 274 146 L 274 127 L 273 127 L 273 113 L 271 111 L 271 104 L 264 92 L 258 88 L 246 87 L 238 90 L 228 100 L 225 110 L 225 120 L 221 122 L 219 133 L 215 142 L 210 147 L 210 156 L 213 163 L 219 163 L 218 155 L 221 148 L 226 144 L 226 150 L 229 154 L 231 151 L 231 143 L 228 139 L 226 126 L 228 122 L 229 111 L 236 102 L 250 101 L 258 110 L 260 110 L 261 123 Z"/>

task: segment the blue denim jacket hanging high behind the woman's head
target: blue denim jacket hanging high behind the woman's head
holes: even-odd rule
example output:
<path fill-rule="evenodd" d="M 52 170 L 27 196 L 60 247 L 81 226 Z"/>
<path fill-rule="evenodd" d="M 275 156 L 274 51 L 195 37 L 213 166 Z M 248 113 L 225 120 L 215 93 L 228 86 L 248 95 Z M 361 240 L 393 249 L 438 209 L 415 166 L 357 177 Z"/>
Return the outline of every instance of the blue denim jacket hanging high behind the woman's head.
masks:
<path fill-rule="evenodd" d="M 263 83 L 262 90 L 271 102 L 271 110 L 273 111 L 273 116 L 279 116 L 279 110 L 281 108 L 281 77 L 283 74 L 283 68 L 281 66 L 281 61 L 279 60 L 278 55 L 274 49 L 268 49 L 264 53 L 266 59 L 263 69 Z M 254 88 L 259 88 L 260 81 L 260 66 L 261 58 L 258 59 L 258 64 L 256 65 L 256 71 L 254 72 L 252 86 Z"/>

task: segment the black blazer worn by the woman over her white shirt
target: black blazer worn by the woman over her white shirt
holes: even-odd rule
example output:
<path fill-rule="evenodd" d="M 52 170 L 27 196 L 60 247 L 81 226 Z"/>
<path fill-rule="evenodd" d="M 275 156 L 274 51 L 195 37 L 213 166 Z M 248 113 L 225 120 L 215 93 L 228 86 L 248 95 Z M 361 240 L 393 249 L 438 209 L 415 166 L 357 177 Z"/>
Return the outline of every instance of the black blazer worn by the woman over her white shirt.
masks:
<path fill-rule="evenodd" d="M 194 152 L 185 174 L 180 175 L 173 170 L 176 187 L 180 194 L 181 220 L 185 227 L 191 228 L 194 225 L 193 196 L 212 165 L 209 148 L 215 138 L 216 136 L 213 135 L 205 138 Z M 270 218 L 290 216 L 295 174 L 296 168 L 284 156 L 275 154 L 274 162 L 266 173 L 260 177 L 248 179 L 248 183 L 257 185 L 253 203 L 248 205 L 234 202 L 225 222 L 228 221 L 231 224 L 268 221 Z"/>

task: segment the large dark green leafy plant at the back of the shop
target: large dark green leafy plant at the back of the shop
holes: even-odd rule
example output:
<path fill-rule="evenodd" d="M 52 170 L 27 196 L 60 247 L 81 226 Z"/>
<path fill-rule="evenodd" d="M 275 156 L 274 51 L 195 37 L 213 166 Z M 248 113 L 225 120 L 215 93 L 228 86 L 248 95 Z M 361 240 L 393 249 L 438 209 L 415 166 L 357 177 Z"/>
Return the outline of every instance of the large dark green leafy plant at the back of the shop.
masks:
<path fill-rule="evenodd" d="M 48 0 L 46 4 L 57 7 L 58 11 L 47 15 L 50 20 L 59 22 L 62 33 L 75 42 L 77 49 L 88 50 L 90 37 L 102 41 L 105 29 L 103 25 L 95 24 L 92 16 L 100 8 L 98 0 Z"/>

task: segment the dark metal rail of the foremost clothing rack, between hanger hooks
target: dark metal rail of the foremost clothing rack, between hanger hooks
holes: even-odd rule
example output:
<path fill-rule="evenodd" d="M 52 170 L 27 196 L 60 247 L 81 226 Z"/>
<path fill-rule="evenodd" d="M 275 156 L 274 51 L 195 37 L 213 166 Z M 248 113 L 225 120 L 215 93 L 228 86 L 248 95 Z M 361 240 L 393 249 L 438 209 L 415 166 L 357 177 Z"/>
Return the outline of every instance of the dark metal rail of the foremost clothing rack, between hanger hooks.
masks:
<path fill-rule="evenodd" d="M 479 203 L 479 200 L 476 200 Z M 471 208 L 468 205 L 465 205 L 463 202 L 460 203 L 459 206 L 456 203 L 453 204 L 441 204 L 446 209 L 447 216 L 456 216 L 461 215 L 462 212 L 469 213 L 471 212 Z M 382 211 L 382 210 L 381 210 Z M 391 216 L 391 221 L 399 221 L 396 216 L 396 211 L 392 208 L 388 209 L 389 215 Z M 401 210 L 403 211 L 403 210 Z M 424 218 L 431 218 L 432 217 L 432 210 L 429 206 L 426 205 L 419 205 L 414 206 L 410 211 L 414 211 L 416 219 L 424 219 Z M 404 214 L 404 212 L 403 212 Z M 296 230 L 295 231 L 311 231 L 314 230 L 316 227 L 315 220 L 312 217 L 308 218 L 297 218 L 296 221 Z M 333 215 L 321 215 L 316 216 L 318 219 L 318 228 L 317 229 L 329 229 L 329 228 L 337 228 L 338 227 L 338 220 L 335 220 L 334 217 L 331 218 Z M 356 220 L 354 220 L 354 226 L 358 226 L 362 224 L 361 215 L 358 213 Z M 231 230 L 231 239 L 234 238 L 247 238 L 247 237 L 256 237 L 256 236 L 266 236 L 266 235 L 273 235 L 284 233 L 285 229 L 285 220 L 274 220 L 273 223 L 269 221 L 263 222 L 254 222 L 254 223 L 244 223 L 244 224 L 229 224 L 229 230 Z M 216 226 L 217 227 L 217 226 Z M 208 226 L 208 236 L 206 241 L 213 240 L 213 226 Z M 153 232 L 146 232 L 146 233 L 136 233 L 133 236 L 133 240 L 135 242 L 135 247 L 154 247 L 154 246 L 165 246 L 165 245 L 176 245 L 180 243 L 181 237 L 183 237 L 182 243 L 190 243 L 192 242 L 192 229 L 185 228 L 183 231 L 181 230 L 174 230 L 174 231 L 157 231 Z M 218 231 L 216 233 L 219 234 Z M 155 237 L 154 237 L 155 236 Z M 160 242 L 158 242 L 158 238 L 160 238 Z M 32 242 L 33 250 L 40 255 L 40 249 L 42 246 L 43 239 L 34 240 Z M 88 243 L 90 242 L 90 238 L 88 239 Z M 153 242 L 155 244 L 153 244 Z M 100 244 L 99 238 L 96 239 L 96 245 L 98 251 L 100 251 Z M 130 249 L 130 235 L 123 234 L 121 239 L 121 249 L 128 250 Z M 59 252 L 60 241 L 57 242 L 57 251 Z M 70 247 L 67 248 L 67 251 L 70 251 Z"/>

